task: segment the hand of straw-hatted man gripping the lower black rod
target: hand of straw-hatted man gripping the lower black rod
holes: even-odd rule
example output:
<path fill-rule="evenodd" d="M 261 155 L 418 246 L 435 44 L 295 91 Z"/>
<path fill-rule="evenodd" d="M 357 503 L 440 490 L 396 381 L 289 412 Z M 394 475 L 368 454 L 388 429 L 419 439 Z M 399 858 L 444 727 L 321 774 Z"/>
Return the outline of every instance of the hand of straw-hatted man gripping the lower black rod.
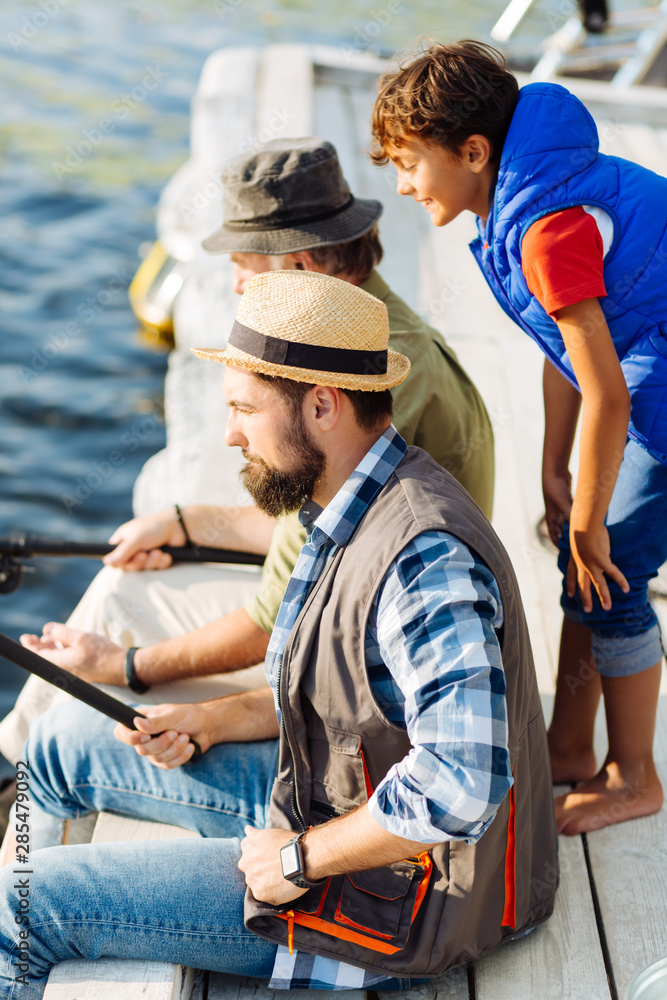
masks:
<path fill-rule="evenodd" d="M 121 743 L 133 746 L 140 757 L 163 770 L 187 764 L 194 753 L 192 737 L 202 753 L 211 746 L 207 726 L 208 713 L 200 705 L 147 705 L 141 709 L 147 718 L 134 720 L 138 732 L 118 723 L 114 736 Z"/>

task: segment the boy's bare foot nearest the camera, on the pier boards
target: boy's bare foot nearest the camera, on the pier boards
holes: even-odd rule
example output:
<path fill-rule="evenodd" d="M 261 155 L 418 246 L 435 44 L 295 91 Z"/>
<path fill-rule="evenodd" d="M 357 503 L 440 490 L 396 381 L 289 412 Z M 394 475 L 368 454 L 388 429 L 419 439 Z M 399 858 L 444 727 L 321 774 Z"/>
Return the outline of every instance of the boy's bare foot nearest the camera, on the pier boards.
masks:
<path fill-rule="evenodd" d="M 606 762 L 600 772 L 573 792 L 554 800 L 558 832 L 590 833 L 603 826 L 649 816 L 662 808 L 662 786 L 651 762 L 640 777 L 626 780 L 618 765 Z"/>

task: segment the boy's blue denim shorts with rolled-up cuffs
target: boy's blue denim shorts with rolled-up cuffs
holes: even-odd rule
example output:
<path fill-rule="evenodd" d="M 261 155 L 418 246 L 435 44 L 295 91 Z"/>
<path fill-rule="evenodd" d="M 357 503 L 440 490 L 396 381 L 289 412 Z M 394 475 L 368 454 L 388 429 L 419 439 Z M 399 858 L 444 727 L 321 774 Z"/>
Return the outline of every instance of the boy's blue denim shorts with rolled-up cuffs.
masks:
<path fill-rule="evenodd" d="M 630 585 L 624 594 L 607 577 L 612 606 L 605 611 L 594 588 L 593 610 L 584 612 L 581 598 L 568 597 L 563 580 L 561 607 L 570 621 L 588 625 L 598 671 L 623 677 L 647 670 L 664 655 L 660 626 L 648 601 L 648 584 L 667 561 L 667 466 L 628 440 L 605 519 L 611 559 Z M 558 567 L 570 561 L 569 524 L 563 525 Z"/>

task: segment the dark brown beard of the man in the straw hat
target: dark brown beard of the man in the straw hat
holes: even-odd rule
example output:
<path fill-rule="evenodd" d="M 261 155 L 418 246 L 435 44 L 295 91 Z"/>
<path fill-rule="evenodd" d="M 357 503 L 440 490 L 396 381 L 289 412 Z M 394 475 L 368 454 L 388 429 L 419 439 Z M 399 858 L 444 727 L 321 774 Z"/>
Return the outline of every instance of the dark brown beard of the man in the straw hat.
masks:
<path fill-rule="evenodd" d="M 272 469 L 264 459 L 243 451 L 243 457 L 250 461 L 241 469 L 241 482 L 259 509 L 270 517 L 299 510 L 313 495 L 326 465 L 324 452 L 308 437 L 300 412 L 294 415 L 283 451 L 294 463 L 287 472 Z"/>

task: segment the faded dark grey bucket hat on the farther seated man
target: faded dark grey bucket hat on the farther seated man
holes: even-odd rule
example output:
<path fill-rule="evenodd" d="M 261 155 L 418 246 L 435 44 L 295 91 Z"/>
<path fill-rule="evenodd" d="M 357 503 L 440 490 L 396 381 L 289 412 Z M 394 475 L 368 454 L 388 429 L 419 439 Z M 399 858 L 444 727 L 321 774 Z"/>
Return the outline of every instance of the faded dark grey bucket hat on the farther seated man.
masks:
<path fill-rule="evenodd" d="M 222 226 L 202 241 L 209 253 L 296 253 L 347 243 L 382 214 L 355 198 L 336 150 L 322 139 L 274 139 L 222 171 Z"/>

